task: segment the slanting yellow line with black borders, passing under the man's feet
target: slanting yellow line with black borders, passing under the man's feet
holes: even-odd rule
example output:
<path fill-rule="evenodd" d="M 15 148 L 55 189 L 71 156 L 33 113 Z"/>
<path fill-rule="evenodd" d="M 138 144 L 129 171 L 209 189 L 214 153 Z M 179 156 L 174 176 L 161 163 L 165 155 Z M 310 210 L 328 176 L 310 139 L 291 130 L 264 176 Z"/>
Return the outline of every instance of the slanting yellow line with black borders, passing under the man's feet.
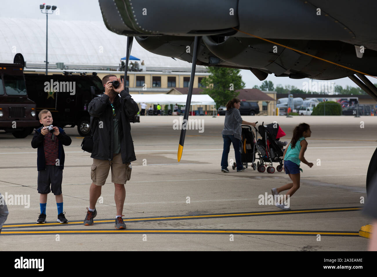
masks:
<path fill-rule="evenodd" d="M 267 215 L 267 214 L 295 214 L 295 213 L 316 213 L 321 211 L 358 211 L 362 208 L 334 208 L 334 209 L 322 209 L 322 210 L 300 210 L 300 211 L 271 211 L 271 212 L 256 212 L 256 213 L 240 213 L 240 214 L 207 214 L 202 216 L 172 216 L 172 217 L 150 217 L 150 218 L 130 218 L 123 219 L 123 221 L 139 221 L 139 220 L 164 220 L 164 219 L 190 219 L 190 218 L 210 218 L 210 217 L 230 217 L 230 216 L 252 216 L 252 215 Z M 114 220 L 95 220 L 97 223 L 114 222 Z M 19 224 L 19 225 L 4 225 L 6 227 L 26 227 L 26 226 L 47 226 L 47 225 L 69 225 L 83 223 L 83 221 L 62 223 L 44 223 L 44 224 Z"/>

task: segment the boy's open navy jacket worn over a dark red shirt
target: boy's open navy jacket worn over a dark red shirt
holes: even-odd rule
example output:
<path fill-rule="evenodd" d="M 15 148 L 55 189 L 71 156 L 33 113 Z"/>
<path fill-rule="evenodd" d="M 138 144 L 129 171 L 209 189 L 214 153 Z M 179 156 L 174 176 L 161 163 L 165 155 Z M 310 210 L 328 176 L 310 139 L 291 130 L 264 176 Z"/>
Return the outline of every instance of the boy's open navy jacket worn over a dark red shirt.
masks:
<path fill-rule="evenodd" d="M 44 135 L 41 133 L 41 129 L 44 126 L 35 129 L 34 137 L 31 141 L 31 147 L 38 148 L 38 155 L 37 155 L 37 169 L 40 170 L 46 170 L 46 160 L 44 158 L 44 147 L 43 147 L 43 141 L 44 141 Z M 63 129 L 58 127 L 59 129 L 59 135 L 56 136 L 56 138 L 59 140 L 59 167 L 60 169 L 64 169 L 64 149 L 63 145 L 70 145 L 72 142 L 72 139 L 66 135 L 66 132 L 64 132 Z"/>

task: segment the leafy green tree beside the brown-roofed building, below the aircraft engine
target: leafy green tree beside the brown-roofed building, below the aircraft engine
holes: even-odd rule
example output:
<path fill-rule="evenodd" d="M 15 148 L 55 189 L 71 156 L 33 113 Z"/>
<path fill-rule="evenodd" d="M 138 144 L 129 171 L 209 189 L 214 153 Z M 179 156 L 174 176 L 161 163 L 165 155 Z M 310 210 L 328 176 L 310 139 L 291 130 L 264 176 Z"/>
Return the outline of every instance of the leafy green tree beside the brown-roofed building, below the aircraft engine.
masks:
<path fill-rule="evenodd" d="M 201 83 L 206 87 L 201 93 L 211 96 L 218 106 L 225 106 L 230 99 L 238 96 L 239 92 L 236 90 L 245 87 L 245 82 L 239 75 L 241 69 L 227 67 L 207 67 L 207 69 L 211 75 L 202 79 Z"/>

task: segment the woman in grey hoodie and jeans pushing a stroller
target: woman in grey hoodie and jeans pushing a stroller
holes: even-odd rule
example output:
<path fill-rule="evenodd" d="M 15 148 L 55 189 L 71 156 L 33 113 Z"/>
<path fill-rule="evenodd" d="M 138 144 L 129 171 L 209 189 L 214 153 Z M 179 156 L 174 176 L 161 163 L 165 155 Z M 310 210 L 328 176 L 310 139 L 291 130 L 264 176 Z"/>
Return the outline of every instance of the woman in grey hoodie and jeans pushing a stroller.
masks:
<path fill-rule="evenodd" d="M 255 127 L 255 123 L 244 121 L 239 112 L 241 101 L 233 98 L 227 103 L 227 111 L 225 112 L 224 129 L 222 130 L 222 138 L 224 139 L 224 150 L 221 158 L 221 171 L 228 173 L 228 154 L 230 144 L 233 144 L 234 155 L 236 156 L 237 172 L 245 171 L 246 168 L 241 162 L 241 124 L 251 125 Z"/>

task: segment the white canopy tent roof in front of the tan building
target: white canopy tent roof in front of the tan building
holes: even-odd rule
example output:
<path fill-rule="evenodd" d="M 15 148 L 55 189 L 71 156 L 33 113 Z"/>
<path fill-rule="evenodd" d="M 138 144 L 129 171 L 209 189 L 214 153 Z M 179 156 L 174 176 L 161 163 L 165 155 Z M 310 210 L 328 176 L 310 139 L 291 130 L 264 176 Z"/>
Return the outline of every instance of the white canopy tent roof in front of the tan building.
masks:
<path fill-rule="evenodd" d="M 136 103 L 146 104 L 178 104 L 185 105 L 187 94 L 131 94 Z M 191 105 L 215 105 L 215 101 L 208 94 L 192 95 Z"/>

